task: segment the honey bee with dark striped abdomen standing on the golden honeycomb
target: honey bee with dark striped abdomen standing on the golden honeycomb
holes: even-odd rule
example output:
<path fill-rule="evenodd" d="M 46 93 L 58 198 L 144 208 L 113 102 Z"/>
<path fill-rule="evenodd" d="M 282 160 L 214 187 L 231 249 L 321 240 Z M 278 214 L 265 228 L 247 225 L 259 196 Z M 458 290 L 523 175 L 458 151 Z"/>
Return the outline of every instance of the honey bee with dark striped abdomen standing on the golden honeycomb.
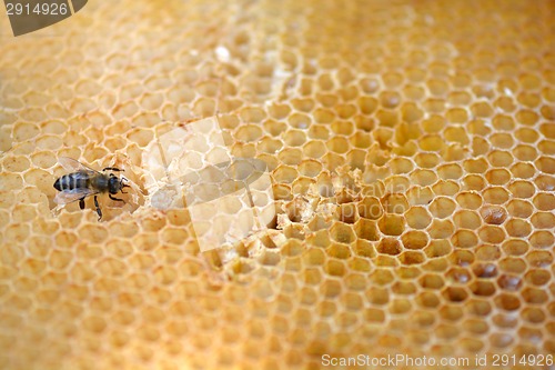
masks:
<path fill-rule="evenodd" d="M 107 167 L 104 171 L 112 171 L 110 174 L 102 173 L 84 166 L 83 163 L 68 157 L 62 157 L 59 163 L 71 173 L 64 174 L 54 182 L 56 190 L 60 191 L 56 194 L 54 202 L 57 204 L 67 204 L 79 200 L 79 208 L 84 209 L 84 198 L 94 196 L 94 206 L 99 214 L 99 221 L 102 219 L 102 211 L 100 210 L 98 193 L 105 193 L 112 200 L 123 202 L 123 199 L 113 197 L 118 192 L 127 193 L 124 188 L 130 188 L 123 181 L 125 179 L 114 176 L 112 172 L 122 172 L 115 167 Z"/>

